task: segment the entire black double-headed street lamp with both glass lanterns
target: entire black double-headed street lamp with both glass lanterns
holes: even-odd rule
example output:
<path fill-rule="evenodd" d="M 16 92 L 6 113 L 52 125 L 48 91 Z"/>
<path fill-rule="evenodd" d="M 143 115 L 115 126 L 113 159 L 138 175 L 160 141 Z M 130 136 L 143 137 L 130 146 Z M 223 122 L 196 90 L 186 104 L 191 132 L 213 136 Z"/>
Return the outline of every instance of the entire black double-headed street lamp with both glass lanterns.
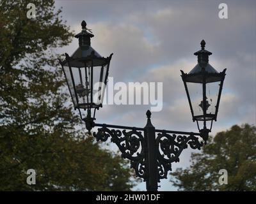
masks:
<path fill-rule="evenodd" d="M 204 142 L 206 144 L 209 132 L 211 132 L 212 120 L 217 118 L 226 69 L 218 73 L 212 68 L 208 62 L 211 52 L 204 49 L 205 41 L 203 40 L 201 42 L 202 49 L 195 53 L 198 56 L 198 64 L 188 74 L 181 71 L 193 121 L 197 122 L 199 133 L 156 129 L 151 123 L 151 112 L 149 110 L 146 113 L 147 124 L 144 128 L 98 124 L 94 122 L 95 111 L 102 107 L 109 63 L 113 54 L 106 58 L 101 57 L 90 46 L 90 38 L 93 37 L 93 34 L 86 28 L 84 21 L 81 25 L 82 32 L 75 36 L 79 38 L 79 48 L 71 57 L 65 54 L 66 59 L 64 61 L 60 60 L 74 107 L 79 110 L 81 119 L 84 120 L 89 133 L 93 127 L 99 127 L 97 132 L 93 132 L 97 141 L 104 142 L 110 137 L 111 142 L 116 143 L 118 149 L 122 152 L 122 157 L 131 161 L 131 168 L 134 168 L 136 176 L 146 182 L 147 191 L 157 191 L 159 187 L 157 182 L 167 178 L 168 171 L 172 170 L 172 163 L 179 161 L 182 150 L 188 148 L 188 145 L 192 149 L 200 149 Z M 98 70 L 97 77 L 100 82 L 97 89 L 93 89 L 95 70 Z M 220 82 L 217 100 L 215 100 L 216 105 L 212 101 L 211 104 L 207 101 L 206 86 L 213 82 Z M 189 93 L 188 83 L 200 85 L 200 92 L 203 96 L 199 104 L 196 103 L 196 100 L 193 101 Z M 194 104 L 197 108 L 202 109 L 202 115 L 195 114 Z M 207 112 L 209 106 L 214 106 L 214 113 Z M 87 112 L 86 117 L 82 116 L 82 109 Z M 206 127 L 207 120 L 211 121 L 210 129 Z M 204 128 L 199 128 L 198 121 L 204 122 Z M 200 137 L 204 142 L 200 141 Z"/>

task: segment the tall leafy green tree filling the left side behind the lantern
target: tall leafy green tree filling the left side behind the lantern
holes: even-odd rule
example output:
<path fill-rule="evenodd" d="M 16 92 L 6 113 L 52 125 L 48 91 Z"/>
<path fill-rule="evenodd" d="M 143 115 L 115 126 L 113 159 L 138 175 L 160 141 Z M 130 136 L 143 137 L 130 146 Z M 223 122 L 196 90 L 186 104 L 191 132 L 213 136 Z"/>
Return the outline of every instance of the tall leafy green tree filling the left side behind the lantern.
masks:
<path fill-rule="evenodd" d="M 73 38 L 54 1 L 0 1 L 0 191 L 124 191 L 131 170 L 100 148 L 68 105 L 60 57 Z M 29 186 L 28 169 L 36 171 Z"/>

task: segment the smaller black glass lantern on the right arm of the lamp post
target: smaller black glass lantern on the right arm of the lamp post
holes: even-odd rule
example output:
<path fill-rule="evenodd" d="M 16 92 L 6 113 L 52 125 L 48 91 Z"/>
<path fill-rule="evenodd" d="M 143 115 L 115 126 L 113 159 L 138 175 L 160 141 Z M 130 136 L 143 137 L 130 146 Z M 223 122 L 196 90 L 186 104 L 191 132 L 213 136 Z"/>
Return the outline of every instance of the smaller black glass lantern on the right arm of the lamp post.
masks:
<path fill-rule="evenodd" d="M 192 113 L 193 121 L 204 122 L 204 130 L 206 130 L 206 122 L 217 119 L 218 108 L 220 104 L 221 90 L 225 78 L 224 69 L 218 73 L 211 64 L 209 64 L 209 55 L 212 53 L 205 50 L 205 41 L 201 41 L 201 50 L 195 52 L 198 57 L 198 64 L 188 74 L 182 70 L 181 77 L 185 85 L 188 96 L 189 106 Z M 208 131 L 211 131 L 211 128 Z"/>

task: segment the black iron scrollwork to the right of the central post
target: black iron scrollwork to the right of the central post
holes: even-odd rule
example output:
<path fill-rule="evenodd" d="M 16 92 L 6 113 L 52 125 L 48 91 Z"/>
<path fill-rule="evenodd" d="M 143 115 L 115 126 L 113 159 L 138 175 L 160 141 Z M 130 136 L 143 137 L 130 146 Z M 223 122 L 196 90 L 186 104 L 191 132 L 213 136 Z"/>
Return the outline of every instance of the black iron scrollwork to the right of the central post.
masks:
<path fill-rule="evenodd" d="M 156 145 L 158 151 L 158 182 L 160 179 L 166 179 L 168 171 L 172 171 L 172 163 L 179 162 L 179 156 L 182 150 L 187 149 L 188 145 L 192 149 L 198 149 L 204 145 L 199 142 L 198 138 L 193 134 L 189 136 L 167 134 L 164 131 L 157 134 Z"/>

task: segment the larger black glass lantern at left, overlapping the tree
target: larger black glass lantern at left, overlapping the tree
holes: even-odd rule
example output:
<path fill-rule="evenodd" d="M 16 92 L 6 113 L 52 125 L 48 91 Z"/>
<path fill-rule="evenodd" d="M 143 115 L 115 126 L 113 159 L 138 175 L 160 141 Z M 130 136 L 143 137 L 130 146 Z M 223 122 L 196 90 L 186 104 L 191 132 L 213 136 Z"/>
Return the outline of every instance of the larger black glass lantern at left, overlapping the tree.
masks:
<path fill-rule="evenodd" d="M 79 48 L 69 56 L 67 53 L 60 64 L 65 75 L 68 89 L 81 118 L 81 109 L 87 110 L 87 119 L 95 117 L 95 110 L 102 106 L 104 91 L 107 84 L 109 63 L 113 54 L 102 57 L 91 47 L 91 38 L 94 36 L 82 22 L 82 32 L 75 37 L 79 39 Z M 94 109 L 93 118 L 91 110 Z M 85 119 L 83 119 L 85 120 Z"/>

